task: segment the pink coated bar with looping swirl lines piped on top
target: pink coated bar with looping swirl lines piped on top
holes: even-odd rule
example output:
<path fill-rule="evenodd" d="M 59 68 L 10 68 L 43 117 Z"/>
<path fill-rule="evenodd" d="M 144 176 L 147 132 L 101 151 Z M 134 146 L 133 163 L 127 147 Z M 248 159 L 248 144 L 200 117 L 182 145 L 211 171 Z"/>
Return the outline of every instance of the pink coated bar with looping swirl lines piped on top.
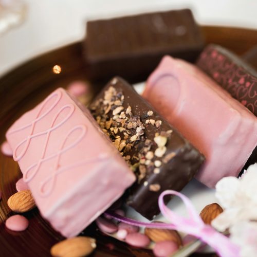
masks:
<path fill-rule="evenodd" d="M 87 109 L 62 88 L 6 137 L 42 216 L 64 236 L 81 232 L 135 180 Z"/>

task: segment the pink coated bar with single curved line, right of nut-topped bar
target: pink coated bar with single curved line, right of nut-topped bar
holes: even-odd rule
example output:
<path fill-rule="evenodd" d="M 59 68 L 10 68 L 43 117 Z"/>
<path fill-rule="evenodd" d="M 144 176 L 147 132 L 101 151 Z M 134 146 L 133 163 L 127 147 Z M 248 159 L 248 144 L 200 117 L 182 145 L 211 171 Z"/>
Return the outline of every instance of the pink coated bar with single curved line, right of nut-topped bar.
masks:
<path fill-rule="evenodd" d="M 164 57 L 143 97 L 206 156 L 196 177 L 208 187 L 237 176 L 255 148 L 256 117 L 185 61 Z"/>

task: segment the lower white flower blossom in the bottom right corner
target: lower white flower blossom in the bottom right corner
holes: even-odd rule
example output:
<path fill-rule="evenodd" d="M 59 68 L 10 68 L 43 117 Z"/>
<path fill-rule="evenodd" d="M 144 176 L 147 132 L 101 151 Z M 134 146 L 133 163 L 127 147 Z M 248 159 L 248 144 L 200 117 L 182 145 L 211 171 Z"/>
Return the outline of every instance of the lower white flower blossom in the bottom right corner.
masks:
<path fill-rule="evenodd" d="M 257 255 L 257 222 L 238 222 L 230 233 L 231 241 L 240 247 L 240 257 Z"/>

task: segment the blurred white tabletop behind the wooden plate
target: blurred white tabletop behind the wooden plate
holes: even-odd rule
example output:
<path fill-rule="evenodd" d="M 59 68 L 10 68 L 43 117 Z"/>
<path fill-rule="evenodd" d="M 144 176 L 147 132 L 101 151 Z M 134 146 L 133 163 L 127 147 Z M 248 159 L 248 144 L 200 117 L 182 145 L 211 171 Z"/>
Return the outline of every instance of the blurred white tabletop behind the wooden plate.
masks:
<path fill-rule="evenodd" d="M 257 28 L 254 0 L 24 1 L 28 6 L 25 22 L 0 35 L 0 76 L 40 53 L 82 40 L 89 19 L 191 8 L 200 24 Z"/>

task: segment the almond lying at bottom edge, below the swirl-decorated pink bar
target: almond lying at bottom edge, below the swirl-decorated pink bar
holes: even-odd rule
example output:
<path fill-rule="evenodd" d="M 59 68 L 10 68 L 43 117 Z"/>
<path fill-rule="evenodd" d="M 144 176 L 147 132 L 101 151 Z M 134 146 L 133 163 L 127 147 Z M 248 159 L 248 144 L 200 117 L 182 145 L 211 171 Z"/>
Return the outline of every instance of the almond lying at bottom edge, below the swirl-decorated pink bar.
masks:
<path fill-rule="evenodd" d="M 96 240 L 91 237 L 78 236 L 66 239 L 52 246 L 51 255 L 58 257 L 87 256 L 96 248 Z"/>

